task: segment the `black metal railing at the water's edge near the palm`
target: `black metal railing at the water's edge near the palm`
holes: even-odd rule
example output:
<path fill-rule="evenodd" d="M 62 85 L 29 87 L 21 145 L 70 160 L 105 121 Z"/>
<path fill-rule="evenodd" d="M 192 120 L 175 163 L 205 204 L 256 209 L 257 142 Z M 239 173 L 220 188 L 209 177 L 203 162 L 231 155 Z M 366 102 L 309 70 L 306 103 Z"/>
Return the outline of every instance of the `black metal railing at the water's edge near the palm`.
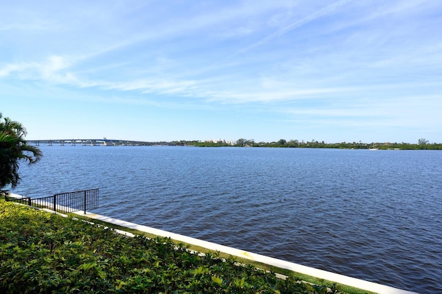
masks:
<path fill-rule="evenodd" d="M 16 199 L 8 198 L 8 200 L 32 207 L 52 209 L 53 211 L 61 213 L 71 213 L 82 210 L 86 214 L 86 210 L 99 207 L 99 191 L 98 189 L 88 189 L 68 193 L 58 193 L 54 196 L 41 198 L 24 197 Z"/>

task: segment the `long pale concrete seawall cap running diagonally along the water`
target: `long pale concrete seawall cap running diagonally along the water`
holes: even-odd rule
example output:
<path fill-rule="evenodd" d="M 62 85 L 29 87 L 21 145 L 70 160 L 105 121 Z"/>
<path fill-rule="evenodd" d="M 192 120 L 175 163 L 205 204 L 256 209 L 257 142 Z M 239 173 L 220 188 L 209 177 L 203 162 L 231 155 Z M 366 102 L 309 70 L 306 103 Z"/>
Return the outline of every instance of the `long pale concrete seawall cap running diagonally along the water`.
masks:
<path fill-rule="evenodd" d="M 382 284 L 376 284 L 374 282 L 368 282 L 365 280 L 359 280 L 354 277 L 347 277 L 346 275 L 340 275 L 337 273 L 331 273 L 329 271 L 323 271 L 320 269 L 314 269 L 309 266 L 303 266 L 301 264 L 295 264 L 293 262 L 287 262 L 285 260 L 278 260 L 276 258 L 269 258 L 265 255 L 260 255 L 256 253 L 251 253 L 249 251 L 244 251 L 240 249 L 231 248 L 228 246 L 223 246 L 220 244 L 215 244 L 212 242 L 207 242 L 204 240 L 199 240 L 196 238 L 187 237 L 185 235 L 179 235 L 176 233 L 171 233 L 168 231 L 162 231 L 159 229 L 154 229 L 151 227 L 146 227 L 140 224 L 134 224 L 133 222 L 126 222 L 124 220 L 117 220 L 115 218 L 108 218 L 107 216 L 100 216 L 99 214 L 95 213 L 84 213 L 82 211 L 78 211 L 77 214 L 81 216 L 87 216 L 88 218 L 92 218 L 95 220 L 101 220 L 103 222 L 108 222 L 111 224 L 117 224 L 122 227 L 135 229 L 138 231 L 143 231 L 146 233 L 151 233 L 154 235 L 159 235 L 162 237 L 171 238 L 173 240 L 177 240 L 180 242 L 184 242 L 187 244 L 193 244 L 196 246 L 201 246 L 206 249 L 209 249 L 211 251 L 220 251 L 222 253 L 227 253 L 229 255 L 238 256 L 240 258 L 247 258 L 248 260 L 254 260 L 256 262 L 262 262 L 264 264 L 269 264 L 271 266 L 277 266 L 282 269 L 288 269 L 290 271 L 295 271 L 297 273 L 304 273 L 306 275 L 311 275 L 314 277 L 318 277 L 320 279 L 330 280 L 333 282 L 337 282 L 338 284 L 344 284 L 348 286 L 353 286 L 355 288 L 361 288 L 366 291 L 372 291 L 376 293 L 382 293 L 382 294 L 410 294 L 413 292 L 401 290 L 399 288 L 394 288 L 391 286 L 385 286 Z"/>

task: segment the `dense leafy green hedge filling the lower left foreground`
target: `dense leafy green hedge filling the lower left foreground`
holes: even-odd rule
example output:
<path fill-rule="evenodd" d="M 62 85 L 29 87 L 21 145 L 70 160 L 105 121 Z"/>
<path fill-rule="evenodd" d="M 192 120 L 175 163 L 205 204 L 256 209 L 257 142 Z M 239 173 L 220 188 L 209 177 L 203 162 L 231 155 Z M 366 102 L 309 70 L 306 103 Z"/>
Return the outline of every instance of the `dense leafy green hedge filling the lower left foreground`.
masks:
<path fill-rule="evenodd" d="M 128 238 L 0 200 L 0 293 L 325 293 L 170 239 Z M 336 289 L 332 290 L 336 293 Z"/>

